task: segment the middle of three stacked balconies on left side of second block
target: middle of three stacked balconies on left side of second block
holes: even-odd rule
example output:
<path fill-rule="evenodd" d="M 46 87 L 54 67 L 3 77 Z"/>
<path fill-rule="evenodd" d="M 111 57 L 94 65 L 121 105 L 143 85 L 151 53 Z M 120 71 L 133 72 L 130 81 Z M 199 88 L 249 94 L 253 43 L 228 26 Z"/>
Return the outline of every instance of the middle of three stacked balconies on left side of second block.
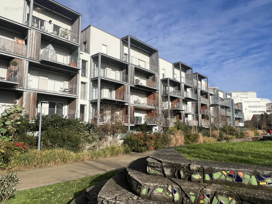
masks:
<path fill-rule="evenodd" d="M 92 91 L 92 100 L 97 99 L 97 91 Z M 100 99 L 109 99 L 109 100 L 120 100 L 128 101 L 128 93 L 121 91 L 114 91 L 111 89 L 102 89 L 100 91 Z"/>

